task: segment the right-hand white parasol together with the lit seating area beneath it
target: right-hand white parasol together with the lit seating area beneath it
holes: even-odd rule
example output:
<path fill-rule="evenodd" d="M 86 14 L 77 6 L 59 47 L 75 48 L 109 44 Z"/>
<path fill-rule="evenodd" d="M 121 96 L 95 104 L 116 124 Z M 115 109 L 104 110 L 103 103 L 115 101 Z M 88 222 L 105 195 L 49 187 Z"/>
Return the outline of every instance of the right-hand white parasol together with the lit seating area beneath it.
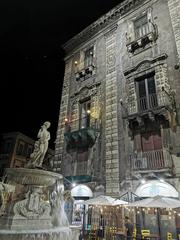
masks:
<path fill-rule="evenodd" d="M 136 214 L 137 234 L 143 230 L 154 239 L 177 239 L 180 223 L 180 201 L 156 196 L 129 204 Z"/>

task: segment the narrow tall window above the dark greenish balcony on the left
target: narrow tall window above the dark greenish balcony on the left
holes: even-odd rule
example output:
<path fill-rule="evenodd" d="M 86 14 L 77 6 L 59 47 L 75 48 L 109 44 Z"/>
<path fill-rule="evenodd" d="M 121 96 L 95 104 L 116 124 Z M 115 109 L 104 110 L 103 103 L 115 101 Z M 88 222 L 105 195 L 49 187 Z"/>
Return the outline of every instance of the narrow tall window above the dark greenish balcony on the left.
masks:
<path fill-rule="evenodd" d="M 90 126 L 90 100 L 80 103 L 80 128 L 87 128 Z"/>

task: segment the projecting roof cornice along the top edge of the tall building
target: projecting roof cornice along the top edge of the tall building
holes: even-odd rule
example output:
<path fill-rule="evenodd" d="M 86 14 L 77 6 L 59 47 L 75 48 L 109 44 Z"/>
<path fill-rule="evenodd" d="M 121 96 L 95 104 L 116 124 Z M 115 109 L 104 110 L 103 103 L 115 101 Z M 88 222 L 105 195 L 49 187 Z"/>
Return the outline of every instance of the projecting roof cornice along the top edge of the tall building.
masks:
<path fill-rule="evenodd" d="M 71 38 L 68 42 L 66 42 L 62 47 L 66 51 L 66 53 L 71 52 L 74 48 L 79 46 L 82 42 L 87 41 L 93 35 L 107 27 L 108 25 L 115 22 L 117 19 L 127 14 L 129 11 L 138 7 L 142 3 L 147 0 L 124 0 L 122 3 L 117 5 L 115 8 L 110 10 L 108 13 L 104 14 L 97 21 L 93 22 L 79 34 Z"/>

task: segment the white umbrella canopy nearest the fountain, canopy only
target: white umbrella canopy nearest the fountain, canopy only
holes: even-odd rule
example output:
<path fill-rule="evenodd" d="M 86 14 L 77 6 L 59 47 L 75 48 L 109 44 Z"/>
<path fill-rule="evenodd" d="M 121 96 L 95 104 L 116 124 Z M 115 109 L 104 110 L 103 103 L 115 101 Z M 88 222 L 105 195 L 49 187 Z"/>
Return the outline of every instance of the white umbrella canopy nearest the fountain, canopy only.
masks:
<path fill-rule="evenodd" d="M 84 202 L 87 205 L 106 205 L 106 206 L 115 206 L 115 205 L 127 205 L 128 203 L 122 200 L 116 200 L 110 196 L 100 195 L 96 198 L 89 199 Z"/>

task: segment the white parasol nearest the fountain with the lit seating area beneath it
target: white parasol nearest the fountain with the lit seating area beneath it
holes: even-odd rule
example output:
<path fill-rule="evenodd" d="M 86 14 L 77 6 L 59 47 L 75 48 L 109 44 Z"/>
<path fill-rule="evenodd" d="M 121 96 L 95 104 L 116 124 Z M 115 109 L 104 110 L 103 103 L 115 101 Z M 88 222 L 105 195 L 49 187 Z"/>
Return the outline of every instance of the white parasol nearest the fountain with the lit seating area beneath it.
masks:
<path fill-rule="evenodd" d="M 115 239 L 116 235 L 124 235 L 124 206 L 128 202 L 110 196 L 98 196 L 87 200 L 87 239 Z"/>

